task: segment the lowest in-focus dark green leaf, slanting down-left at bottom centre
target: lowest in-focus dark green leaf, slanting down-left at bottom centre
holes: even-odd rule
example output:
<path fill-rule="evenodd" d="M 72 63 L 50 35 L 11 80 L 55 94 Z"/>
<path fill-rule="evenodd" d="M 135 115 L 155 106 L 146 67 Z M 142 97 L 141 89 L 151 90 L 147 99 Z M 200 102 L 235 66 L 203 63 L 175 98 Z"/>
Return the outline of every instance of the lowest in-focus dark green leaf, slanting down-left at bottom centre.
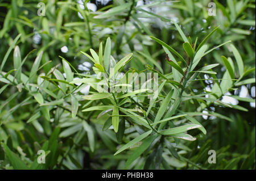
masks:
<path fill-rule="evenodd" d="M 153 135 L 151 135 L 150 137 L 146 138 L 141 146 L 139 146 L 127 159 L 126 163 L 125 163 L 125 167 L 127 168 L 129 165 L 131 165 L 131 163 L 133 163 L 135 161 L 135 159 L 137 159 L 151 144 L 152 142 L 156 139 L 156 137 L 158 137 L 158 134 L 155 133 Z"/>

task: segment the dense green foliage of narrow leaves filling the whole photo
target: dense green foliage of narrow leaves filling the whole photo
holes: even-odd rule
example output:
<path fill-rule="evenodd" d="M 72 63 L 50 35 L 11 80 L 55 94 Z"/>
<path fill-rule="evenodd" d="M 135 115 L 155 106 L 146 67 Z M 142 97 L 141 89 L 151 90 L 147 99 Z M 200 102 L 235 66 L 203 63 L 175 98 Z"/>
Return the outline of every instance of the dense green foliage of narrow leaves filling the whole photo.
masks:
<path fill-rule="evenodd" d="M 38 2 L 0 1 L 1 169 L 255 169 L 254 1 Z"/>

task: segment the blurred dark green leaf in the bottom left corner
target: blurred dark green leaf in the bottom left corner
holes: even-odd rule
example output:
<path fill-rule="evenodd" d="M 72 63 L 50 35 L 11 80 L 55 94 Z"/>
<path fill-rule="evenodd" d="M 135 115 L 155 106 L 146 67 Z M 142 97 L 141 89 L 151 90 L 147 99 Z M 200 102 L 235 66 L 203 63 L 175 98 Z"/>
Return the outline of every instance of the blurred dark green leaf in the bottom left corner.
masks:
<path fill-rule="evenodd" d="M 27 170 L 28 167 L 25 165 L 25 163 L 15 154 L 13 151 L 9 149 L 9 147 L 6 144 L 3 144 L 3 149 L 5 150 L 5 153 L 8 157 L 8 159 L 11 162 L 11 165 L 15 170 Z"/>

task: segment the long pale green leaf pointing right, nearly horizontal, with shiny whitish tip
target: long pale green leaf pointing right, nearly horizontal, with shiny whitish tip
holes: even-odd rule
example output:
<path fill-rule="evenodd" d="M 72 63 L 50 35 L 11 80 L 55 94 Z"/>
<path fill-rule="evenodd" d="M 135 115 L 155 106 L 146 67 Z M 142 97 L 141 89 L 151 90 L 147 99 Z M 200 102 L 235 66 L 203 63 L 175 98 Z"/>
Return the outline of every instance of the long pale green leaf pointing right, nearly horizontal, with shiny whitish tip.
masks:
<path fill-rule="evenodd" d="M 164 129 L 164 130 L 159 131 L 159 133 L 163 134 L 163 135 L 172 135 L 172 134 L 182 133 L 182 132 L 188 131 L 190 129 L 201 128 L 201 127 L 202 126 L 199 124 L 186 124 L 186 125 L 183 125 L 180 127 Z"/>

